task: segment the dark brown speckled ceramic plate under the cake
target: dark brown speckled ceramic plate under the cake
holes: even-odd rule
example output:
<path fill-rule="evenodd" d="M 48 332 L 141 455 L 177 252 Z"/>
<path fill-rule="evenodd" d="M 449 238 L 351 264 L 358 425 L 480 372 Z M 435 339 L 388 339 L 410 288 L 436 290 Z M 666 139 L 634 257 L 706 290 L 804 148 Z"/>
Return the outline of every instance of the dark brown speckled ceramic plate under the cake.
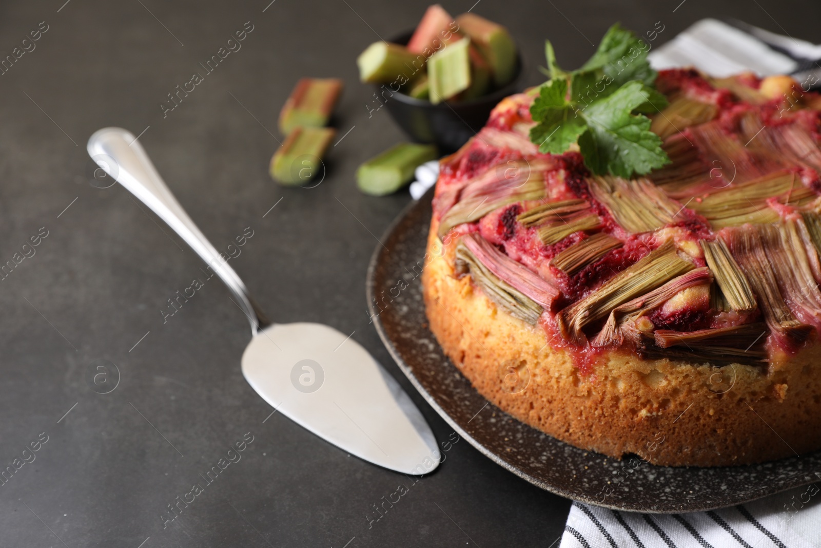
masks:
<path fill-rule="evenodd" d="M 744 467 L 661 467 L 617 461 L 556 440 L 502 412 L 470 385 L 427 327 L 419 274 L 433 196 L 400 216 L 376 247 L 368 302 L 379 336 L 436 411 L 476 449 L 534 485 L 612 509 L 682 513 L 718 509 L 818 481 L 821 453 Z M 378 299 L 383 305 L 374 305 Z M 816 476 L 816 473 L 819 473 Z"/>

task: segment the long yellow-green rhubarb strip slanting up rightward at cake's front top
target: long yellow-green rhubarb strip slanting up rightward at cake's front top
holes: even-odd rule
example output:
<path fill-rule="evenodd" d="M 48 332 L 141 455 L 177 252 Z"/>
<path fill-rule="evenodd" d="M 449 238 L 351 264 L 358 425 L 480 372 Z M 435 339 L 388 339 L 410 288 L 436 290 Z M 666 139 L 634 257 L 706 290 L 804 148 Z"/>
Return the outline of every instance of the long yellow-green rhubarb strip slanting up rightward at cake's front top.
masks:
<path fill-rule="evenodd" d="M 694 268 L 695 265 L 690 260 L 682 259 L 678 255 L 673 242 L 667 240 L 635 265 L 622 270 L 603 283 L 587 297 L 559 311 L 556 315 L 558 327 L 564 338 L 574 343 L 584 343 L 587 337 L 582 329 L 586 325 L 602 320 L 617 306 L 652 291 Z"/>

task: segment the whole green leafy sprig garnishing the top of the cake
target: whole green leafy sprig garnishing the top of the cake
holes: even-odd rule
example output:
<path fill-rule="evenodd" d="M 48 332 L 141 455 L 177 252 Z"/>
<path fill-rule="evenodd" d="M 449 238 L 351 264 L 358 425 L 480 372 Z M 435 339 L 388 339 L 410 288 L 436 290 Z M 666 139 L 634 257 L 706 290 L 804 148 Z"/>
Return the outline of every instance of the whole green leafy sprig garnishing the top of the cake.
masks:
<path fill-rule="evenodd" d="M 670 163 L 644 116 L 667 107 L 667 99 L 654 88 L 657 73 L 647 62 L 648 51 L 633 32 L 612 25 L 593 57 L 568 72 L 558 66 L 547 41 L 551 80 L 530 106 L 538 122 L 530 140 L 539 151 L 562 154 L 577 143 L 591 172 L 619 177 L 644 175 Z"/>

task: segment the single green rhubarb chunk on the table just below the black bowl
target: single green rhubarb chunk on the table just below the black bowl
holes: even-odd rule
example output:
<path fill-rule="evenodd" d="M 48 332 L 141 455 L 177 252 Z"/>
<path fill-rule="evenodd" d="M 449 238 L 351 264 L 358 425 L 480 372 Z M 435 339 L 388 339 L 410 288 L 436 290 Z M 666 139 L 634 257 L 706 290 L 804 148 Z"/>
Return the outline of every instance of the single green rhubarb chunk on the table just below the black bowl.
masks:
<path fill-rule="evenodd" d="M 418 166 L 436 157 L 434 145 L 400 143 L 360 165 L 356 184 L 365 194 L 392 194 L 410 182 Z"/>

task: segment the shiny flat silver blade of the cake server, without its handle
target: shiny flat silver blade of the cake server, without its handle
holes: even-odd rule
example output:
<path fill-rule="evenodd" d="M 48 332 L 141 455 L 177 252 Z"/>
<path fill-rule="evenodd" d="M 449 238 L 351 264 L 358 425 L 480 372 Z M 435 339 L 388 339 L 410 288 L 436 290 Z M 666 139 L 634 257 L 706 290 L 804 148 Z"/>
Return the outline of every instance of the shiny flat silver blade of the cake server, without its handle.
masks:
<path fill-rule="evenodd" d="M 242 355 L 245 380 L 275 412 L 371 463 L 410 474 L 437 466 L 436 440 L 396 380 L 328 325 L 277 324 Z"/>

